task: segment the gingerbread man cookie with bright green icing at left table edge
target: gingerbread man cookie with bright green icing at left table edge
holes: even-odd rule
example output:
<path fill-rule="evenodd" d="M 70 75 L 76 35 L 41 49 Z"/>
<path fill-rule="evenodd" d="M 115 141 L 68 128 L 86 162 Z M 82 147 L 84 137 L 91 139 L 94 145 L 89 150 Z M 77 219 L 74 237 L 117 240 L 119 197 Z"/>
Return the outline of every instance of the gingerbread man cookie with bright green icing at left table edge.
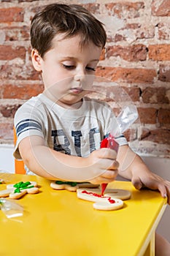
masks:
<path fill-rule="evenodd" d="M 36 187 L 35 181 L 20 181 L 17 184 L 7 185 L 7 189 L 0 191 L 0 197 L 9 197 L 11 199 L 19 199 L 23 195 L 36 194 L 39 192 L 38 187 Z"/>

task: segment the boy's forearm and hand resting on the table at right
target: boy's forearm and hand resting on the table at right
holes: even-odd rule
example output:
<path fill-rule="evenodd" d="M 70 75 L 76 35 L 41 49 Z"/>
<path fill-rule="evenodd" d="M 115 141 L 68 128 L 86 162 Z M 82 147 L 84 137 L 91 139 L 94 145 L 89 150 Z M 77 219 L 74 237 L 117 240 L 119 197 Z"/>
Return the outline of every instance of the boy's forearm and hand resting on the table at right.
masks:
<path fill-rule="evenodd" d="M 162 197 L 167 196 L 169 198 L 170 204 L 170 182 L 152 173 L 131 148 L 127 145 L 121 146 L 117 154 L 117 161 L 120 163 L 120 176 L 130 179 L 136 189 L 141 189 L 142 187 L 158 189 Z"/>

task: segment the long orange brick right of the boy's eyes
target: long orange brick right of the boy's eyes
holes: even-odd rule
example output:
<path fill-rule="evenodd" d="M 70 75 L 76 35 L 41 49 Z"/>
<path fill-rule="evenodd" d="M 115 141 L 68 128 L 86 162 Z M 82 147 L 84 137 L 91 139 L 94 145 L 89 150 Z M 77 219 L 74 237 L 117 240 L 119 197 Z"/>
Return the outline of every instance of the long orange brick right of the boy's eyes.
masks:
<path fill-rule="evenodd" d="M 157 74 L 155 69 L 98 67 L 96 75 L 108 80 L 126 83 L 153 83 Z"/>

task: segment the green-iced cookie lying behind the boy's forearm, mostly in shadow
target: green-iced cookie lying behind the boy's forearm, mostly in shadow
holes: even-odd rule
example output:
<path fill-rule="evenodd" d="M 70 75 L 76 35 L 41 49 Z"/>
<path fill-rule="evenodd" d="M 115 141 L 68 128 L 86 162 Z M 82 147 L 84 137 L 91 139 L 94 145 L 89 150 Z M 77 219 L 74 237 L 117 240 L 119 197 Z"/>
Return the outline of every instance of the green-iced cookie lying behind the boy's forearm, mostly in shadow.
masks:
<path fill-rule="evenodd" d="M 74 182 L 74 181 L 53 181 L 50 184 L 52 189 L 62 190 L 66 189 L 71 192 L 76 192 L 81 187 L 96 188 L 98 185 L 90 184 L 89 182 Z"/>

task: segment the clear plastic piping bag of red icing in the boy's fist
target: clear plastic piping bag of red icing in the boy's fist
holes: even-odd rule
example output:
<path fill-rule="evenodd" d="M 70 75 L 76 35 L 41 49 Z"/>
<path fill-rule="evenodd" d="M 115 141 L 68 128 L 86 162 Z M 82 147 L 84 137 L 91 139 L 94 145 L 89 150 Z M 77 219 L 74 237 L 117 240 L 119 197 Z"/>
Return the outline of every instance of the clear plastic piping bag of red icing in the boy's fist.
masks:
<path fill-rule="evenodd" d="M 101 141 L 101 148 L 111 148 L 113 150 L 118 151 L 119 144 L 115 141 L 115 138 L 119 137 L 125 130 L 127 130 L 131 124 L 136 121 L 138 118 L 138 112 L 137 108 L 134 105 L 129 105 L 121 111 L 121 113 L 117 116 L 116 121 L 118 124 L 117 131 L 111 130 L 109 133 L 109 136 L 107 138 L 104 138 L 104 140 Z M 114 127 L 114 124 L 112 124 L 112 127 Z M 107 183 L 101 184 L 101 195 L 104 195 L 104 191 L 107 188 Z"/>

